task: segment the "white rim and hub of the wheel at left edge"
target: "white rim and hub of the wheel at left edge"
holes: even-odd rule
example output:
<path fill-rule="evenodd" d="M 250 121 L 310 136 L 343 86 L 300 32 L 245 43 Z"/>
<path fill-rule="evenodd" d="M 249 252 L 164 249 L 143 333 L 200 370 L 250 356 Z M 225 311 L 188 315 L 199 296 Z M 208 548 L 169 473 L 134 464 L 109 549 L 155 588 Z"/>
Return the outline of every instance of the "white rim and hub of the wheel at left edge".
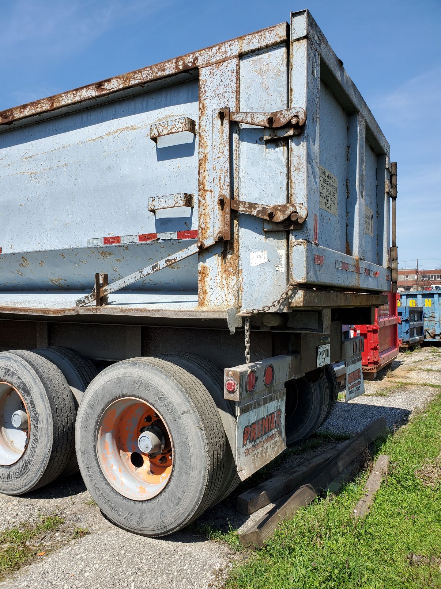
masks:
<path fill-rule="evenodd" d="M 0 382 L 0 465 L 18 462 L 28 446 L 31 423 L 26 403 L 8 382 Z"/>

